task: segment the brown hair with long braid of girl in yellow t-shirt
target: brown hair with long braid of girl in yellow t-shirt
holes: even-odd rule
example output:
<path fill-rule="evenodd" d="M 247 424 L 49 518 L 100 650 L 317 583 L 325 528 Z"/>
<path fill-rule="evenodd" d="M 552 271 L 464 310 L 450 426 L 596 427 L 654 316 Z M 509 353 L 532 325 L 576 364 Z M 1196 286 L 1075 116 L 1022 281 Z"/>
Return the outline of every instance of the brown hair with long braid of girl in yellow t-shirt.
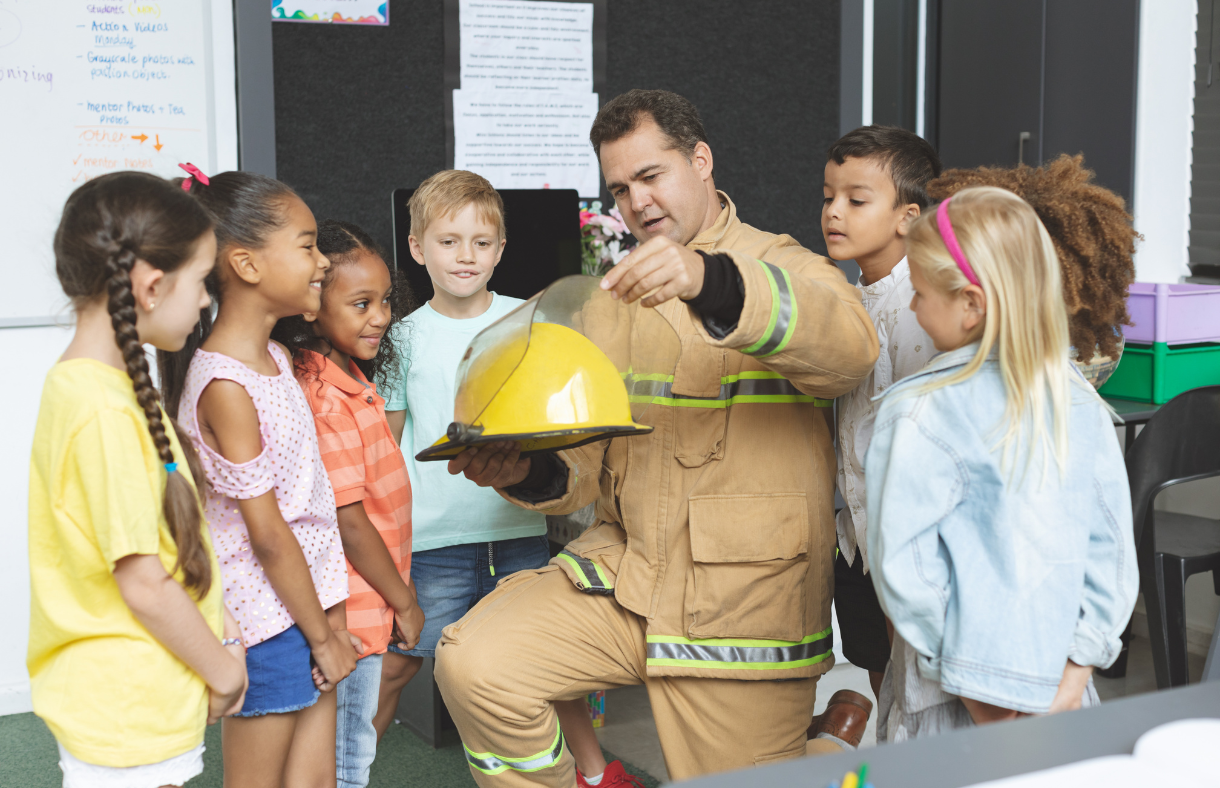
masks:
<path fill-rule="evenodd" d="M 135 329 L 132 268 L 137 260 L 166 272 L 190 259 L 211 220 L 198 202 L 168 181 L 140 172 L 94 178 L 72 193 L 55 233 L 55 271 L 63 293 L 78 305 L 105 294 L 115 342 L 123 354 L 135 400 L 148 418 L 157 457 L 165 465 L 163 512 L 178 548 L 171 575 L 203 598 L 212 584 L 211 557 L 203 535 L 199 493 L 176 465 L 160 394 L 149 377 L 148 357 Z M 171 428 L 177 424 L 170 421 Z M 203 479 L 189 439 L 181 440 L 194 478 Z M 105 457 L 102 457 L 105 461 Z"/>

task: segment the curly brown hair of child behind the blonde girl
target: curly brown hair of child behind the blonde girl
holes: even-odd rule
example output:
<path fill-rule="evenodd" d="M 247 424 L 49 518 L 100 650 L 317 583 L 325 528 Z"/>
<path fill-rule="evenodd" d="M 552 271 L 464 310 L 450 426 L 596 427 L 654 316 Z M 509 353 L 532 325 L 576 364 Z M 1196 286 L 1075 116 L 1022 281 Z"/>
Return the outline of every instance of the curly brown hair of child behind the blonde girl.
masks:
<path fill-rule="evenodd" d="M 1063 273 L 1068 329 L 1076 364 L 1100 388 L 1122 355 L 1120 326 L 1130 324 L 1131 256 L 1141 237 L 1122 198 L 1093 183 L 1085 157 L 1063 154 L 1048 165 L 947 170 L 927 185 L 941 201 L 969 187 L 999 187 L 1028 202 L 1050 234 Z"/>

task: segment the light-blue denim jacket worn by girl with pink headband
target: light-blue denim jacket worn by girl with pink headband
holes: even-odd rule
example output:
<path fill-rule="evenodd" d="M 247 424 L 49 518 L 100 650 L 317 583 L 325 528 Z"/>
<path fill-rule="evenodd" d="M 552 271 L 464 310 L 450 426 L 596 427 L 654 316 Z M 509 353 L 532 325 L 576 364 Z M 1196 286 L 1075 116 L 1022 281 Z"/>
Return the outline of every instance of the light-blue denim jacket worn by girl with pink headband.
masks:
<path fill-rule="evenodd" d="M 882 395 L 865 459 L 874 584 L 925 678 L 1046 712 L 1066 659 L 1104 667 L 1119 654 L 1138 590 L 1131 493 L 1111 420 L 1082 379 L 1063 476 L 1050 455 L 1043 472 L 1041 448 L 1026 468 L 1027 440 L 1002 467 L 994 354 L 967 381 L 919 393 L 977 350 L 946 353 Z"/>

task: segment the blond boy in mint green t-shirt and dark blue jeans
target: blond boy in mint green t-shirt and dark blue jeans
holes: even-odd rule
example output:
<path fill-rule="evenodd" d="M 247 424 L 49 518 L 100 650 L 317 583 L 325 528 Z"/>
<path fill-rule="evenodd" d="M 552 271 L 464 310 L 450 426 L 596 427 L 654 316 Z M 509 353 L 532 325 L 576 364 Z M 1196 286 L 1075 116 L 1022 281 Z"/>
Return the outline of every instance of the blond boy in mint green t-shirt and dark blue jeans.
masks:
<path fill-rule="evenodd" d="M 415 461 L 415 454 L 453 422 L 458 364 L 471 339 L 525 303 L 487 287 L 506 243 L 504 201 L 486 178 L 447 170 L 420 184 L 409 206 L 411 256 L 427 268 L 433 295 L 403 321 L 406 331 L 396 333 L 404 343 L 405 373 L 387 398 L 386 416 L 411 477 L 411 577 L 425 625 L 416 648 L 390 645 L 386 655 L 378 734 L 393 721 L 403 687 L 423 657 L 436 656 L 440 631 L 504 577 L 550 560 L 544 515 L 450 476 L 444 462 Z M 584 701 L 555 706 L 581 784 L 622 784 L 630 776 L 617 761 L 608 767 Z"/>

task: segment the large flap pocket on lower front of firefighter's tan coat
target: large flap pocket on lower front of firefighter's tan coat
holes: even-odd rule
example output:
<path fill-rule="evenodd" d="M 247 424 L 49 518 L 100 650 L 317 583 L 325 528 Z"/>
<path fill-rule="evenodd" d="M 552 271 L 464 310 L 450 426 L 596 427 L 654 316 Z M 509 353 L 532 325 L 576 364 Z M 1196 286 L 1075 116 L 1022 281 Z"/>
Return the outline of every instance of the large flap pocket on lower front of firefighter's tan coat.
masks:
<path fill-rule="evenodd" d="M 692 638 L 795 642 L 811 634 L 804 493 L 692 496 L 691 556 Z"/>

